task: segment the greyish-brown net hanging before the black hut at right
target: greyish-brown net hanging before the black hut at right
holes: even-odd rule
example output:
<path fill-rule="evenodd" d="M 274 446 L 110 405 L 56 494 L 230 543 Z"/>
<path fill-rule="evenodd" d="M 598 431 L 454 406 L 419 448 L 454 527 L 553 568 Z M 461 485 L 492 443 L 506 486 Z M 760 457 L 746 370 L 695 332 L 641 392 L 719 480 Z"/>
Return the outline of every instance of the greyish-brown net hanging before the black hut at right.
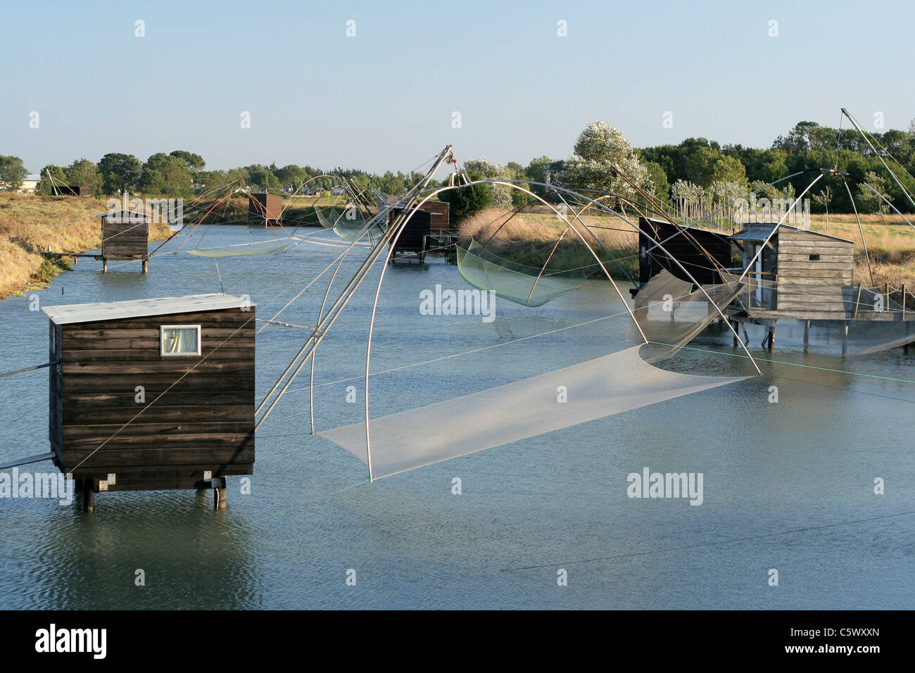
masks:
<path fill-rule="evenodd" d="M 742 288 L 732 280 L 700 289 L 666 270 L 652 277 L 636 294 L 632 311 L 645 338 L 659 346 L 646 359 L 657 362 L 677 353 L 720 319 L 718 309 L 725 309 Z"/>

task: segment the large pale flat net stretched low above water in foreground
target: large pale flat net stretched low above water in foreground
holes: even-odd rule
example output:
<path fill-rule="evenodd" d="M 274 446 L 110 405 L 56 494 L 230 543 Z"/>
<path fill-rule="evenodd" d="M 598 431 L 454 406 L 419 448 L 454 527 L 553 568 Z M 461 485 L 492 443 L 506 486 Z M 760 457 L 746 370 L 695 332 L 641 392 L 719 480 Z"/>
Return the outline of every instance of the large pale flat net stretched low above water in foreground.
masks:
<path fill-rule="evenodd" d="M 646 363 L 640 348 L 373 418 L 372 474 L 390 476 L 747 378 L 667 372 Z M 557 402 L 558 386 L 567 390 L 565 404 Z M 364 422 L 318 434 L 368 462 Z"/>

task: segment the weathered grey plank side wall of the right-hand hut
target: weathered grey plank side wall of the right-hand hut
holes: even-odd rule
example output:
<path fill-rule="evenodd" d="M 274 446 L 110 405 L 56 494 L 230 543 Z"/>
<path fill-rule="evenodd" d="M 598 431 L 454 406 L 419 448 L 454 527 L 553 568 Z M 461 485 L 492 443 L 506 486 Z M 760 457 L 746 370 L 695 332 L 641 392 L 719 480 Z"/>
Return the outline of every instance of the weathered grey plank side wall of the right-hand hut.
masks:
<path fill-rule="evenodd" d="M 842 286 L 854 282 L 854 244 L 779 231 L 778 309 L 845 313 Z M 820 255 L 812 260 L 811 255 Z"/>

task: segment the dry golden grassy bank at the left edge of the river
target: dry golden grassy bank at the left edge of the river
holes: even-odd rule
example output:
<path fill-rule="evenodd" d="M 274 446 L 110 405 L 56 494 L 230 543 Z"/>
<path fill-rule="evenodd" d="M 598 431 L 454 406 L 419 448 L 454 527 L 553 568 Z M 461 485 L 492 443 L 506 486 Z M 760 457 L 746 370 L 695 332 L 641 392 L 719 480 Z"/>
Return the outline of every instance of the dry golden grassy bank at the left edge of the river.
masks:
<path fill-rule="evenodd" d="M 103 199 L 0 192 L 0 299 L 42 287 L 72 267 L 68 257 L 41 255 L 48 246 L 56 253 L 97 248 L 102 237 L 96 215 L 107 210 Z M 151 240 L 170 233 L 165 224 L 150 227 Z"/>

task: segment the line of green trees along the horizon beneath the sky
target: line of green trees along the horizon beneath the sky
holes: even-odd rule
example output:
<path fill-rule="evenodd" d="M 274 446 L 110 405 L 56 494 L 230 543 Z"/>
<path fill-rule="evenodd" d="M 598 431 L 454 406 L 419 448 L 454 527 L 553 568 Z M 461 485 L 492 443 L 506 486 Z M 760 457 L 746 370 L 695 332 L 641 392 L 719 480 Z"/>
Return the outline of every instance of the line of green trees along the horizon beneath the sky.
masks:
<path fill-rule="evenodd" d="M 888 130 L 871 135 L 884 159 L 897 167 L 897 176 L 910 191 L 915 190 L 915 122 L 909 131 Z M 615 174 L 612 166 L 622 169 L 629 181 Z M 785 136 L 779 136 L 766 149 L 741 145 L 720 145 L 706 138 L 687 138 L 678 145 L 632 148 L 619 129 L 605 122 L 591 122 L 574 146 L 574 152 L 563 159 L 536 157 L 522 165 L 510 161 L 504 166 L 484 159 L 471 159 L 464 164 L 474 179 L 522 179 L 550 183 L 576 190 L 613 191 L 624 196 L 636 196 L 630 182 L 674 210 L 684 210 L 687 204 L 727 203 L 749 190 L 760 190 L 775 180 L 810 168 L 838 168 L 858 179 L 867 181 L 902 212 L 909 212 L 910 203 L 896 183 L 888 179 L 879 157 L 852 128 L 837 129 L 801 122 Z M 141 161 L 133 155 L 106 154 L 98 162 L 86 158 L 70 166 L 48 165 L 41 169 L 38 193 L 51 194 L 52 184 L 88 187 L 96 196 L 109 196 L 124 190 L 150 195 L 190 198 L 209 190 L 241 180 L 253 190 L 295 192 L 306 182 L 309 186 L 330 189 L 335 180 L 317 176 L 326 171 L 311 166 L 290 164 L 208 170 L 199 154 L 175 150 L 157 153 Z M 383 194 L 403 194 L 422 174 L 386 171 L 370 173 L 361 169 L 343 171 L 363 190 L 373 188 Z M 5 190 L 17 190 L 27 171 L 19 157 L 0 156 L 0 183 Z M 50 176 L 50 179 L 48 178 Z M 811 181 L 812 175 L 801 175 L 780 184 L 761 189 L 759 194 L 769 198 L 791 198 Z M 438 183 L 434 183 L 434 186 Z M 442 183 L 443 184 L 443 183 Z M 859 212 L 887 210 L 876 194 L 836 176 L 821 179 L 808 194 L 813 212 L 852 212 L 853 201 Z M 518 190 L 492 186 L 469 193 L 458 201 L 472 201 L 503 207 L 519 206 L 530 197 Z M 533 191 L 550 201 L 556 195 L 543 187 Z M 851 194 L 849 194 L 849 191 Z M 458 204 L 456 204 L 458 205 Z"/>

